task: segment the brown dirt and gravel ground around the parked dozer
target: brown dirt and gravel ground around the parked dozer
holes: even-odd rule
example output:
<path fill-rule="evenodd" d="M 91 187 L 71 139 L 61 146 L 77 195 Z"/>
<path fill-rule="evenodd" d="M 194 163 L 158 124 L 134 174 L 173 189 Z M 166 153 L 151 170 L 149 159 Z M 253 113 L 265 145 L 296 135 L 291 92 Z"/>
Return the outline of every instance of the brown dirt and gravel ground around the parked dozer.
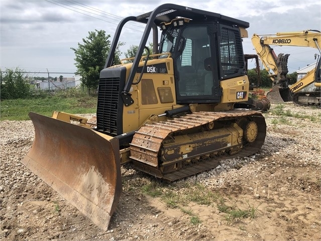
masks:
<path fill-rule="evenodd" d="M 265 143 L 255 156 L 245 158 L 248 162 L 172 184 L 179 194 L 186 191 L 179 189 L 181 183 L 201 183 L 224 197 L 230 206 L 255 207 L 255 218 L 228 220 L 216 204 L 189 202 L 184 209 L 196 214 L 200 221 L 193 224 L 191 216 L 182 209 L 170 208 L 161 198 L 144 194 L 142 185 L 155 180 L 126 165 L 122 167 L 123 194 L 108 231 L 96 227 L 21 163 L 33 142 L 31 121 L 4 121 L 0 126 L 6 128 L 1 135 L 0 238 L 321 240 L 321 111 L 293 104 L 286 108 L 318 119 L 286 117 L 284 124 L 275 122 L 280 117 L 267 113 Z M 26 129 L 31 130 L 30 134 Z M 166 190 L 165 185 L 163 191 Z"/>

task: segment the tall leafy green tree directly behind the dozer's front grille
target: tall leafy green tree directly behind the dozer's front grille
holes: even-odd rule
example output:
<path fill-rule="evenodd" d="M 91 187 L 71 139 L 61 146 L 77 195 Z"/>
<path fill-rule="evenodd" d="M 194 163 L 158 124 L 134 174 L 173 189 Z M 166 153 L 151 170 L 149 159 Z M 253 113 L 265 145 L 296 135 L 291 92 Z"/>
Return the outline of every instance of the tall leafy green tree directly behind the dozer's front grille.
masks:
<path fill-rule="evenodd" d="M 99 72 L 103 69 L 107 54 L 110 50 L 110 35 L 104 30 L 88 32 L 89 36 L 82 39 L 83 44 L 78 43 L 78 48 L 71 48 L 75 52 L 75 65 L 77 74 L 81 75 L 81 82 L 88 89 L 96 90 L 99 82 Z M 115 51 L 114 64 L 120 63 L 119 43 Z"/>

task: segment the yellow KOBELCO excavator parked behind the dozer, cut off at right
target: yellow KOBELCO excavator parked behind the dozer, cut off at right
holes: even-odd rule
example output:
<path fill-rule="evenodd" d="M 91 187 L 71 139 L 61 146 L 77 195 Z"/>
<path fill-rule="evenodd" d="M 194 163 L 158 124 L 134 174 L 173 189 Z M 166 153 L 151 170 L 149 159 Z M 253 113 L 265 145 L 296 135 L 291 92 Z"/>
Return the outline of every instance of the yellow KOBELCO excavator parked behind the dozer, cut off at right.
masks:
<path fill-rule="evenodd" d="M 280 53 L 276 56 L 270 45 L 300 46 L 316 48 L 321 54 L 321 32 L 318 30 L 304 30 L 297 32 L 281 32 L 276 34 L 253 34 L 253 46 L 259 55 L 265 69 L 270 73 L 273 82 L 272 90 L 267 93 L 271 103 L 293 102 L 298 105 L 320 105 L 321 80 L 320 58 L 317 57 L 315 68 L 307 72 L 296 83 L 289 86 L 286 74 L 289 54 Z M 272 71 L 272 73 L 271 73 Z M 303 92 L 302 89 L 314 83 L 312 91 Z"/>

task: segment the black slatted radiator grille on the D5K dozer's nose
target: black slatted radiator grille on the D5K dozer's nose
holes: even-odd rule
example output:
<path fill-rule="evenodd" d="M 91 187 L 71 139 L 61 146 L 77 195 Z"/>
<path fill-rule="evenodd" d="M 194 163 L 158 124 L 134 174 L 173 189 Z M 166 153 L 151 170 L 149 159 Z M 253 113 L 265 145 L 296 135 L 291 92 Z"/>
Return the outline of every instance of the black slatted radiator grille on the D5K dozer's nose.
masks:
<path fill-rule="evenodd" d="M 117 135 L 117 109 L 120 96 L 120 78 L 99 79 L 97 101 L 98 131 Z"/>

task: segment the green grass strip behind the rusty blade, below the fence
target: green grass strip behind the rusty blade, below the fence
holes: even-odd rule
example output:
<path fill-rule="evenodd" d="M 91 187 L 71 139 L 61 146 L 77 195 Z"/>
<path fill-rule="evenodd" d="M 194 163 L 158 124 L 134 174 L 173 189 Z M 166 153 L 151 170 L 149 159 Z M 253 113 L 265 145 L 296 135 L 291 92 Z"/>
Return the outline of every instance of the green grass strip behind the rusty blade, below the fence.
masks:
<path fill-rule="evenodd" d="M 96 112 L 96 96 L 88 96 L 81 92 L 68 93 L 32 99 L 3 100 L 0 106 L 0 120 L 30 120 L 29 112 L 45 116 L 51 116 L 53 111 L 63 111 L 70 114 Z"/>

